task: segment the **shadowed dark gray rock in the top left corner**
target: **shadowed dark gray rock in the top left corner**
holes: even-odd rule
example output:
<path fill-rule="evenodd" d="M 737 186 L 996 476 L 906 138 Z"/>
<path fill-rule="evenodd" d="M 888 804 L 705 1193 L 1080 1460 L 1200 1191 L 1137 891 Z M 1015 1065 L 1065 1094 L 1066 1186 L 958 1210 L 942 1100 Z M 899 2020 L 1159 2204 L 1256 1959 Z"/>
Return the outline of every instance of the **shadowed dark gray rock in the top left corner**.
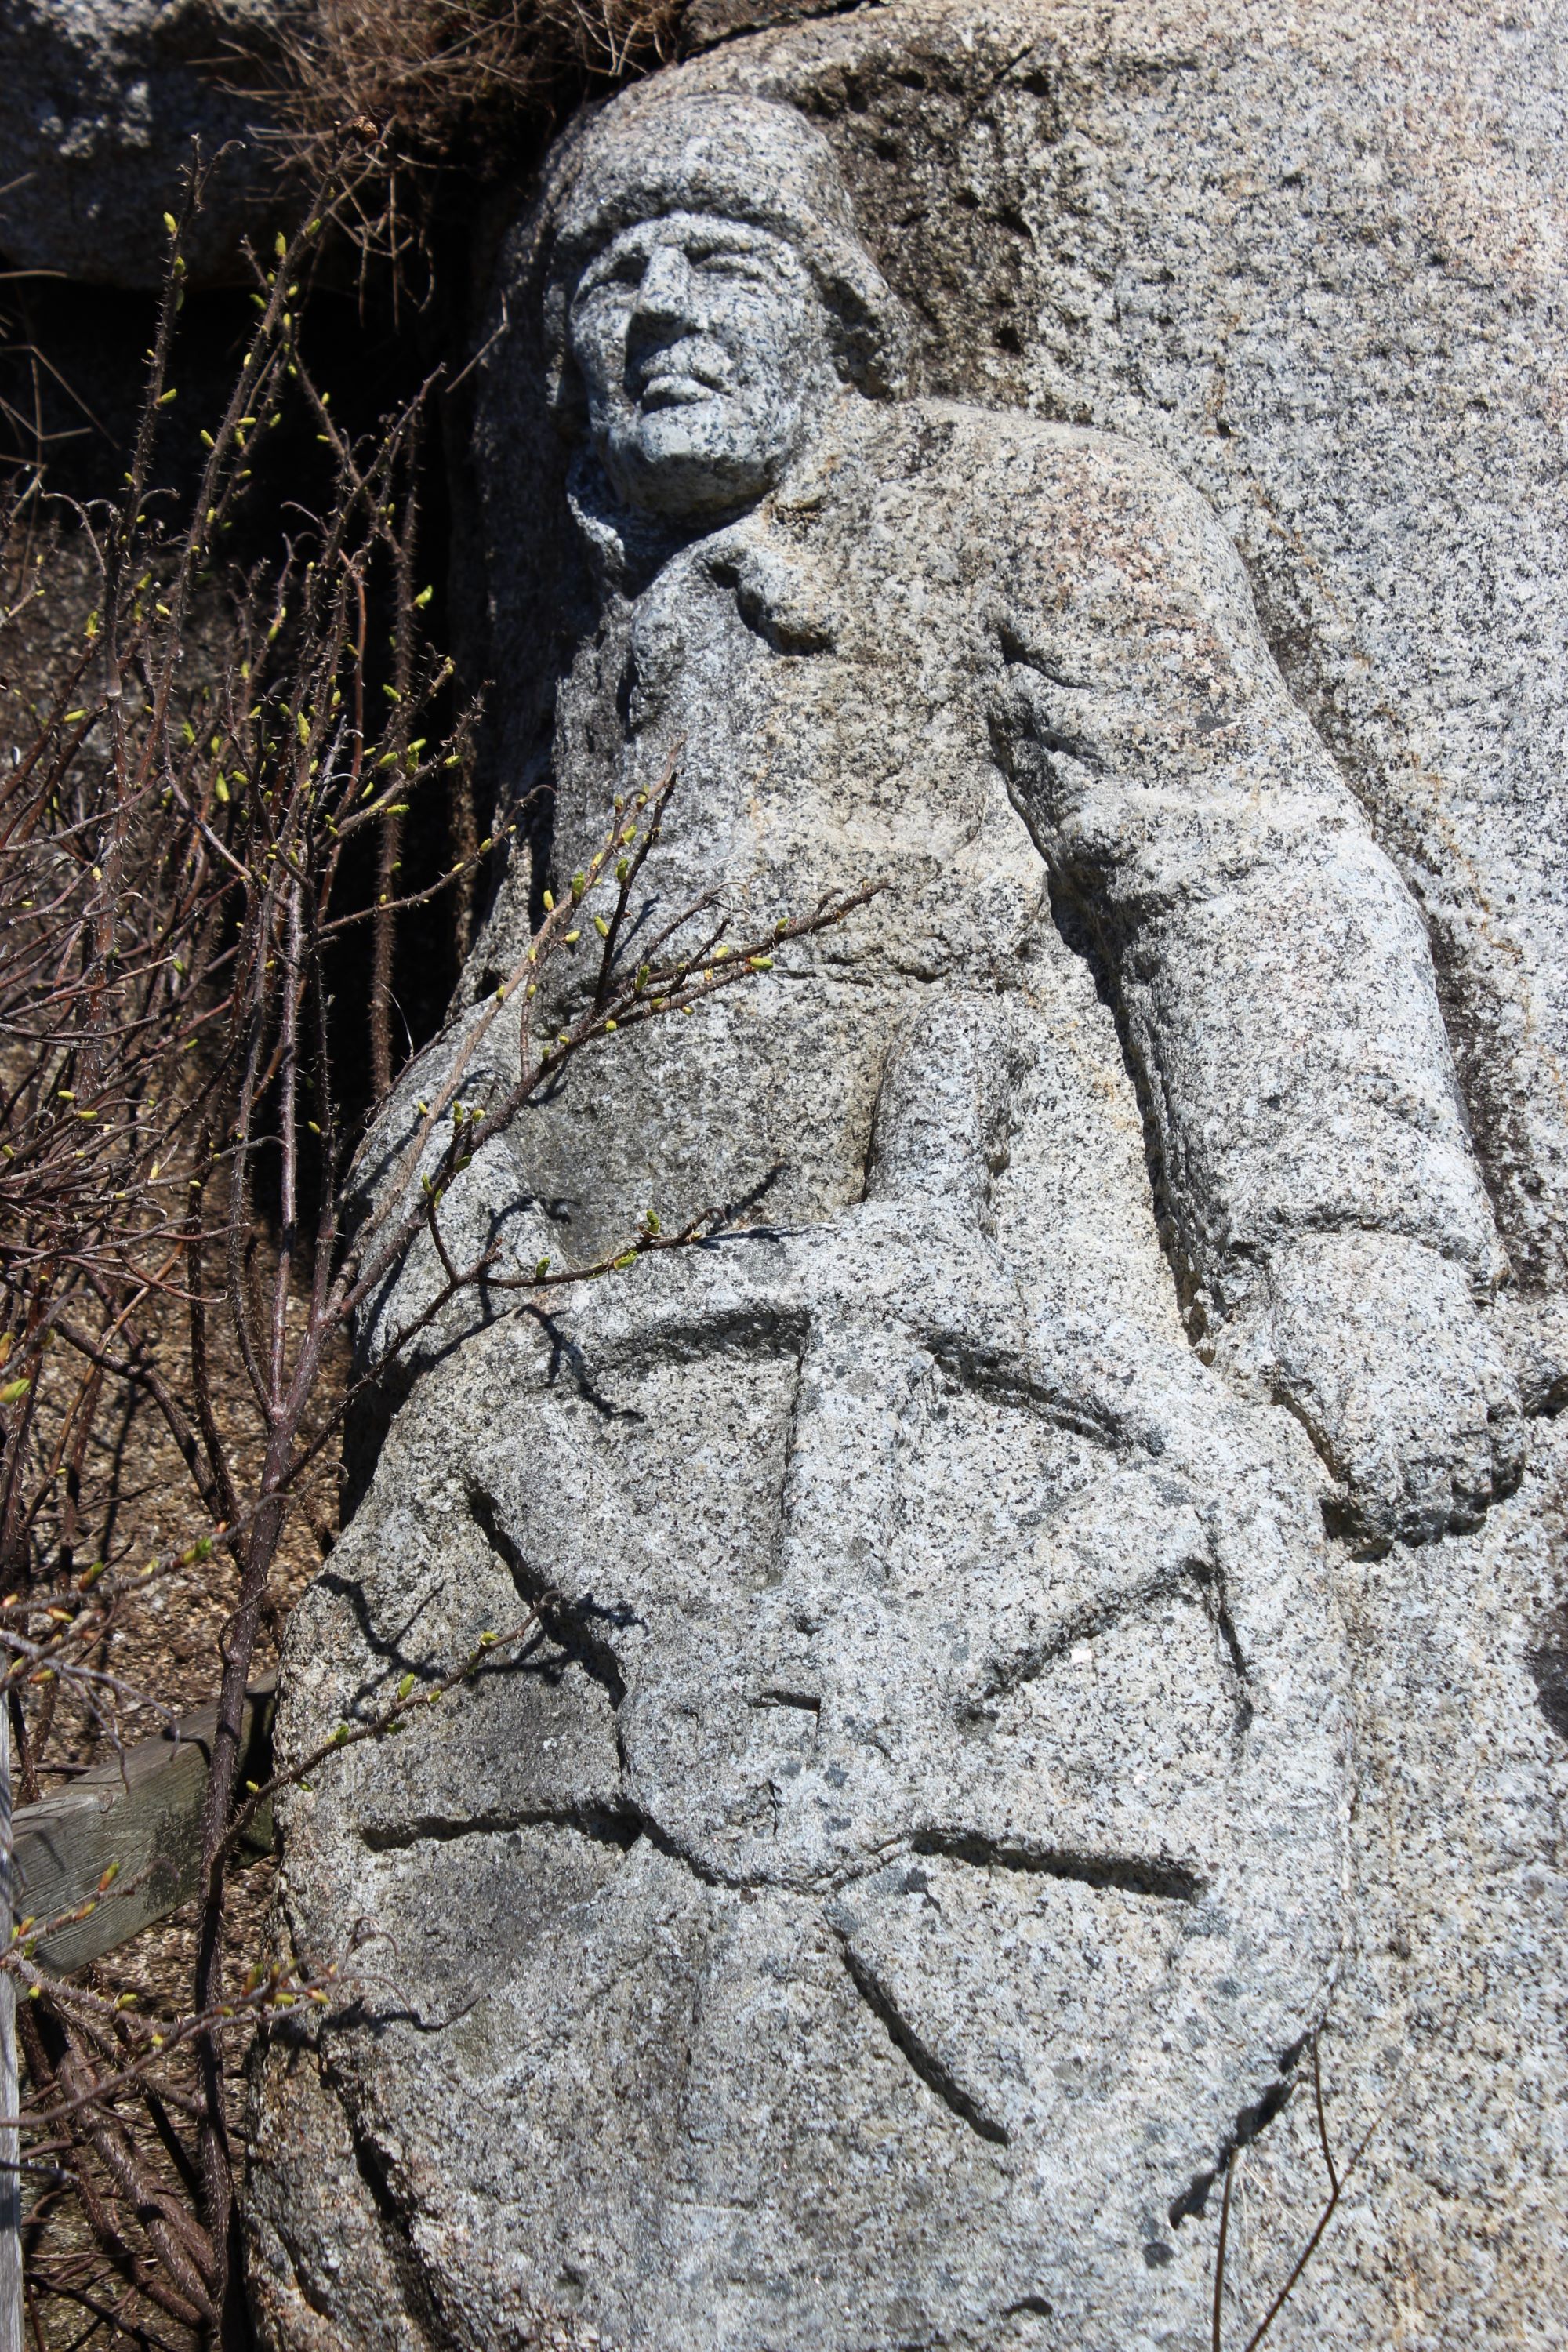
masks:
<path fill-rule="evenodd" d="M 240 275 L 273 160 L 259 61 L 292 0 L 0 0 L 0 252 L 14 268 L 155 287 L 190 141 L 219 158 L 190 282 Z"/>

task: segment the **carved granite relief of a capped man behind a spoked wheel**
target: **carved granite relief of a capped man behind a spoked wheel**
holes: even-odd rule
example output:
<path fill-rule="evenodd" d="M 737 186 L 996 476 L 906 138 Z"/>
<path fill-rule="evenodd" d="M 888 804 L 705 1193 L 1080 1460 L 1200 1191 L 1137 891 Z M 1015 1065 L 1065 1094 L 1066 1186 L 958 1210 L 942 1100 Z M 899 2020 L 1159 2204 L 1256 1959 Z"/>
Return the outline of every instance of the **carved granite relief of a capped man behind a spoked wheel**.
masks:
<path fill-rule="evenodd" d="M 1523 1465 L 1427 934 L 1215 515 L 917 397 L 799 113 L 656 82 L 529 235 L 597 581 L 557 870 L 675 757 L 649 910 L 884 889 L 454 1197 L 522 1265 L 752 1209 L 451 1331 L 299 1613 L 292 1745 L 555 1590 L 292 1799 L 289 1931 L 364 1992 L 263 2070 L 263 2312 L 1197 2347 L 1347 1926 L 1328 1536 Z"/>

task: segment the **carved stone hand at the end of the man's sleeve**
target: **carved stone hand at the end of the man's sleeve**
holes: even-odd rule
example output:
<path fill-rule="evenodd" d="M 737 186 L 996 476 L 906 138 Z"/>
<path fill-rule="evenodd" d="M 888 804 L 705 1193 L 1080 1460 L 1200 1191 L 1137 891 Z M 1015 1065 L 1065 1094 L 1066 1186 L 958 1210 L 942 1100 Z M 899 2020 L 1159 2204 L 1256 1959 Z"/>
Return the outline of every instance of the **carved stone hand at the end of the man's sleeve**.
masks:
<path fill-rule="evenodd" d="M 1218 1341 L 1262 1381 L 1342 1484 L 1345 1534 L 1382 1548 L 1476 1526 L 1523 1470 L 1519 1388 L 1462 1265 L 1387 1232 L 1281 1251 Z"/>

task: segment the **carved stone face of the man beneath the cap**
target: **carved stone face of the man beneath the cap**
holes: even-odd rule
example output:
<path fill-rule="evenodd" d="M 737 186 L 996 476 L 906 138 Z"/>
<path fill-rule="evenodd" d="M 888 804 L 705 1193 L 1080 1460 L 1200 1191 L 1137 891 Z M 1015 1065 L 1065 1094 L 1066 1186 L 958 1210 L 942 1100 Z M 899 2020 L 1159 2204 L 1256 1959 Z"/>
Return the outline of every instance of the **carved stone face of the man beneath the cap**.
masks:
<path fill-rule="evenodd" d="M 795 247 L 717 214 L 623 228 L 583 270 L 569 334 L 616 494 L 670 520 L 759 499 L 837 390 Z"/>

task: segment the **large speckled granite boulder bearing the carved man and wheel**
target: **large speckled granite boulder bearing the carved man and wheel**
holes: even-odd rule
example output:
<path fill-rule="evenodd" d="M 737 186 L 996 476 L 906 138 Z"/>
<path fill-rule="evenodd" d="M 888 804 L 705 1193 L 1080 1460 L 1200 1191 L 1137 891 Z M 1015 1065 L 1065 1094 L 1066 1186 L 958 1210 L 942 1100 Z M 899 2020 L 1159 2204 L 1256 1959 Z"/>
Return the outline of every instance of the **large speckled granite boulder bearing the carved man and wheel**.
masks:
<path fill-rule="evenodd" d="M 679 743 L 654 908 L 886 894 L 454 1192 L 524 1265 L 759 1185 L 771 1232 L 447 1329 L 299 1616 L 292 1743 L 557 1592 L 524 1665 L 289 1809 L 287 1929 L 357 2006 L 259 2072 L 275 2345 L 1197 2352 L 1237 2145 L 1246 2343 L 1326 2194 L 1319 2025 L 1340 2161 L 1378 2133 L 1274 2340 L 1554 2343 L 1552 861 L 1507 814 L 1535 736 L 1427 830 L 1389 753 L 1462 748 L 1460 670 L 1540 633 L 1432 567 L 1368 588 L 1373 475 L 1403 452 L 1429 550 L 1458 494 L 1418 496 L 1408 376 L 1324 339 L 1335 270 L 1392 327 L 1312 193 L 1512 33 L 1439 33 L 1408 106 L 1408 24 L 1258 24 L 731 42 L 569 136 L 512 242 L 477 452 L 557 870 Z M 1239 125 L 1274 193 L 1220 238 Z M 1528 308 L 1399 285 L 1410 353 L 1422 303 Z M 1281 477 L 1288 562 L 1237 489 Z M 1302 581 L 1406 619 L 1293 637 Z"/>

